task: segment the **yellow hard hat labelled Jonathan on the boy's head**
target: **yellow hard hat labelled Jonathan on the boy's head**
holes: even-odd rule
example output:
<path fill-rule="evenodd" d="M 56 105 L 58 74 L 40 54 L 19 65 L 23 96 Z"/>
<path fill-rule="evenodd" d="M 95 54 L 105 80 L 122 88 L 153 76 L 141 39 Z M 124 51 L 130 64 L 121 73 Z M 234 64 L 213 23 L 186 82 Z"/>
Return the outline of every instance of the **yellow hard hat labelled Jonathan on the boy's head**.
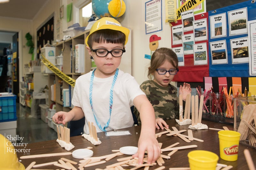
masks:
<path fill-rule="evenodd" d="M 118 21 L 116 21 L 116 19 L 111 18 L 111 17 L 103 17 L 100 18 L 99 20 L 97 20 L 91 28 L 91 31 L 89 33 L 89 35 L 86 37 L 85 39 L 85 44 L 88 46 L 88 37 L 95 31 L 97 30 L 103 30 L 103 29 L 110 29 L 110 30 L 116 30 L 116 31 L 121 31 L 124 33 L 125 35 L 125 43 L 124 45 L 127 43 L 128 41 L 128 36 L 129 36 L 129 32 L 130 30 L 128 28 L 123 27 Z"/>

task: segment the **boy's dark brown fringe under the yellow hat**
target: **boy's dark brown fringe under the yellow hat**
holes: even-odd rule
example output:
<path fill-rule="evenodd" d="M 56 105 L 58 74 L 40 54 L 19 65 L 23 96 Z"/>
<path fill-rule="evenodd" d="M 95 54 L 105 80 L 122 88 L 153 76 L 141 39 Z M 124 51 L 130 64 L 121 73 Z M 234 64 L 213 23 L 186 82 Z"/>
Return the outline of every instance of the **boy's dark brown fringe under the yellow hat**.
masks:
<path fill-rule="evenodd" d="M 88 45 L 92 47 L 92 42 L 96 43 L 113 43 L 113 44 L 124 44 L 125 43 L 125 35 L 121 31 L 111 30 L 111 29 L 103 29 L 93 32 L 89 35 Z"/>

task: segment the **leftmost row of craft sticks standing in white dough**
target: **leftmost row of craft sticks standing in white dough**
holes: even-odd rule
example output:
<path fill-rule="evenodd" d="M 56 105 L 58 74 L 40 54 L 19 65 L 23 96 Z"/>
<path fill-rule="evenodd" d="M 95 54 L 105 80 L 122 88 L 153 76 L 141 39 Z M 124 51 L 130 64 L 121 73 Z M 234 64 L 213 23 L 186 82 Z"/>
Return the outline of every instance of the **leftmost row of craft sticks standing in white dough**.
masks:
<path fill-rule="evenodd" d="M 67 127 L 63 127 L 63 126 L 57 126 L 57 135 L 58 135 L 58 139 L 56 140 L 56 142 L 59 143 L 59 145 L 61 147 L 64 147 L 67 151 L 70 151 L 71 149 L 73 149 L 75 146 L 72 145 L 72 143 L 69 141 L 70 140 L 70 129 Z M 59 129 L 60 127 L 60 129 Z"/>

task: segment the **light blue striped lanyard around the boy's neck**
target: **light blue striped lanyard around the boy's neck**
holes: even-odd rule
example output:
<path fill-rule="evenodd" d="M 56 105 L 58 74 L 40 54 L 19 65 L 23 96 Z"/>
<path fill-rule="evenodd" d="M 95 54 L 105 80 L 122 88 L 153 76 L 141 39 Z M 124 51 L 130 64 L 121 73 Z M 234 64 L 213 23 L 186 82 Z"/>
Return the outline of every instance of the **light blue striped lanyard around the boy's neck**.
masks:
<path fill-rule="evenodd" d="M 115 76 L 114 76 L 114 79 L 112 81 L 112 85 L 111 85 L 111 88 L 110 88 L 110 96 L 109 96 L 109 119 L 108 119 L 108 122 L 105 124 L 104 128 L 102 129 L 100 123 L 98 122 L 95 114 L 94 114 L 94 111 L 93 111 L 93 107 L 92 107 L 92 86 L 93 86 L 93 79 L 94 79 L 94 71 L 96 69 L 94 69 L 92 71 L 92 75 L 91 75 L 91 80 L 90 80 L 90 91 L 89 91 L 89 99 L 90 99 L 90 104 L 91 104 L 91 108 L 92 108 L 92 113 L 93 113 L 93 116 L 94 116 L 94 119 L 95 119 L 95 122 L 97 124 L 97 126 L 100 128 L 101 131 L 106 131 L 106 128 L 108 127 L 109 125 L 109 122 L 110 122 L 110 116 L 111 116 L 111 112 L 112 112 L 112 104 L 113 104 L 113 89 L 114 89 L 114 86 L 115 86 L 115 83 L 116 83 L 116 78 L 117 78 L 117 74 L 118 74 L 118 68 L 116 68 L 116 73 L 115 73 Z"/>

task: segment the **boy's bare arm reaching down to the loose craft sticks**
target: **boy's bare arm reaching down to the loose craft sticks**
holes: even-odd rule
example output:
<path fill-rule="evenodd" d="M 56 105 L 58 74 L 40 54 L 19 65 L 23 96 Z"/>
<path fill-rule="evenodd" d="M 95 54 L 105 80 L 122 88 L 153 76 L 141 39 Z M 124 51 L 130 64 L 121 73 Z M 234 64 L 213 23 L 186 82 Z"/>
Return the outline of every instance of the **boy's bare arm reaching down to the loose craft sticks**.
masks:
<path fill-rule="evenodd" d="M 140 112 L 141 131 L 138 142 L 138 152 L 133 157 L 139 158 L 139 164 L 142 164 L 144 153 L 148 151 L 148 164 L 155 162 L 161 153 L 158 141 L 155 138 L 156 122 L 155 111 L 148 98 L 140 95 L 134 98 L 134 106 Z"/>

